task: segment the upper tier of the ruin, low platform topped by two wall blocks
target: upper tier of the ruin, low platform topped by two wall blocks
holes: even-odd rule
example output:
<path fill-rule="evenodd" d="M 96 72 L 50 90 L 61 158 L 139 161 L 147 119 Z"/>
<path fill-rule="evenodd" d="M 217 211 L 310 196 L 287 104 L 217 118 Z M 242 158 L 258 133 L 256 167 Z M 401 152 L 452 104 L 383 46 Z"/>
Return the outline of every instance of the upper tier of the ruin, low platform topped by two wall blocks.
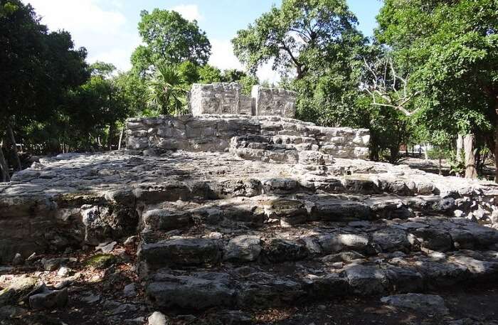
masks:
<path fill-rule="evenodd" d="M 295 93 L 238 83 L 194 84 L 191 113 L 128 119 L 127 149 L 231 151 L 244 159 L 297 162 L 299 155 L 367 159 L 368 129 L 317 127 L 295 117 Z"/>

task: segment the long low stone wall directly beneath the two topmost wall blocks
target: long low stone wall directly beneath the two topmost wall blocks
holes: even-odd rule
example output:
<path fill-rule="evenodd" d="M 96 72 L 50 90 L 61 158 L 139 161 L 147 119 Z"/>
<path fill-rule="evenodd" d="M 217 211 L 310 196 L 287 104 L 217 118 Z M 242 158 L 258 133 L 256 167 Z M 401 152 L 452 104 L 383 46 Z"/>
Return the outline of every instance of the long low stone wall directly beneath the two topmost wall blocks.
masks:
<path fill-rule="evenodd" d="M 284 146 L 286 150 L 315 150 L 335 158 L 358 159 L 368 158 L 370 141 L 368 129 L 317 127 L 277 116 L 213 114 L 128 119 L 126 134 L 131 150 L 225 151 L 233 137 L 263 136 L 258 138 L 259 144 L 248 146 L 268 150 Z"/>

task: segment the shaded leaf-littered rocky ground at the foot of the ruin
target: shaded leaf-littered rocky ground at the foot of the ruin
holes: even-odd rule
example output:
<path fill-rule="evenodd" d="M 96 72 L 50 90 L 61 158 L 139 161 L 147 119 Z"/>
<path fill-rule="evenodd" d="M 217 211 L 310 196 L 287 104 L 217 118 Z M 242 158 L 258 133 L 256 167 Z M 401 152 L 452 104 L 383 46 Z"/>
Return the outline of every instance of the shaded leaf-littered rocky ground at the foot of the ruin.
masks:
<path fill-rule="evenodd" d="M 0 287 L 13 279 L 27 283 L 26 278 L 31 277 L 49 287 L 68 289 L 68 302 L 63 307 L 33 310 L 29 302 L 21 300 L 0 307 L 0 324 L 149 324 L 154 309 L 144 295 L 144 282 L 132 272 L 133 248 L 116 245 L 107 254 L 112 258 L 102 258 L 107 255 L 101 251 L 78 251 L 57 257 L 38 256 L 23 266 L 2 267 Z M 496 282 L 427 294 L 408 297 L 404 303 L 382 296 L 341 297 L 290 307 L 249 307 L 232 314 L 216 308 L 195 313 L 161 311 L 166 320 L 163 324 L 498 324 Z"/>

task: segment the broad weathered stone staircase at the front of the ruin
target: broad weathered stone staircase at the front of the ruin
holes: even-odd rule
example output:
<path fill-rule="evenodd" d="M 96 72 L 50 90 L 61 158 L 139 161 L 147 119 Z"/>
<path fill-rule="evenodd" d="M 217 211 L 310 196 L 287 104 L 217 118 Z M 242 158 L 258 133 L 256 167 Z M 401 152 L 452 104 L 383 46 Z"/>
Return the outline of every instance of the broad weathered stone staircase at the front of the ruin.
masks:
<path fill-rule="evenodd" d="M 461 198 L 331 173 L 327 186 L 255 179 L 254 191 L 147 206 L 138 270 L 149 301 L 265 309 L 497 279 L 498 232 L 455 217 Z"/>

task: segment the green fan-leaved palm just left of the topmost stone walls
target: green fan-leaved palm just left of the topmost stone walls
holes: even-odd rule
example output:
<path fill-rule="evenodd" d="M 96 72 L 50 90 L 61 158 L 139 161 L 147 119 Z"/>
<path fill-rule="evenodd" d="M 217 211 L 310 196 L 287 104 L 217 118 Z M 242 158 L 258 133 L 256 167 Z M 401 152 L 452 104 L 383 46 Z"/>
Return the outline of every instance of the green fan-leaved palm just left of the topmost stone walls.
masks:
<path fill-rule="evenodd" d="M 147 81 L 147 105 L 161 114 L 186 113 L 186 86 L 172 65 L 157 65 Z"/>

